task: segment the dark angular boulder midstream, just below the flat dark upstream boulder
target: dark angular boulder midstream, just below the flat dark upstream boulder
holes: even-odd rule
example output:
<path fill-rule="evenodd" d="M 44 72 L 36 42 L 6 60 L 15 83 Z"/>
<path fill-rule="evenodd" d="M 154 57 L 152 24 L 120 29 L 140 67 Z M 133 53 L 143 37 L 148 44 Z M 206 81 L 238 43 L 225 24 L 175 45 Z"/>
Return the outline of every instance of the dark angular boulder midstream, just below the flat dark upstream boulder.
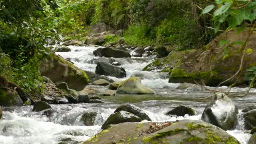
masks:
<path fill-rule="evenodd" d="M 106 75 L 117 78 L 126 77 L 125 69 L 122 67 L 112 66 L 111 64 L 107 64 L 105 62 L 99 62 L 97 64 L 95 73 L 98 75 Z"/>

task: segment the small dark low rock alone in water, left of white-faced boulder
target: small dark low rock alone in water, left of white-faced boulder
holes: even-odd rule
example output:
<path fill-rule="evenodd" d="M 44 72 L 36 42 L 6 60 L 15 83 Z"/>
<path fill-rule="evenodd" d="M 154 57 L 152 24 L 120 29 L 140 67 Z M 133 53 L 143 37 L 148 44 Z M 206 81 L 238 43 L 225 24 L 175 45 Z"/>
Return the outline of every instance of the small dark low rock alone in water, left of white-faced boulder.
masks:
<path fill-rule="evenodd" d="M 195 111 L 190 107 L 180 105 L 172 109 L 170 112 L 167 112 L 165 115 L 177 115 L 184 117 L 185 115 L 195 115 Z"/>

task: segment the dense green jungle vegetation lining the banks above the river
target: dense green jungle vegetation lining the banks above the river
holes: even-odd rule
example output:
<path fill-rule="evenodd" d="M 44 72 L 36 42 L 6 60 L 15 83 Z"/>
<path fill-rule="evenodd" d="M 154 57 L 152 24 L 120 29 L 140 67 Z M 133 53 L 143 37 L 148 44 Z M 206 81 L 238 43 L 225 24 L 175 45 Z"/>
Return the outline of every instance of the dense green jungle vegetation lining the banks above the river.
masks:
<path fill-rule="evenodd" d="M 254 0 L 0 0 L 0 74 L 40 92 L 39 61 L 51 39 L 85 40 L 93 24 L 104 22 L 125 30 L 129 45 L 197 49 L 218 30 L 255 24 L 255 9 Z"/>

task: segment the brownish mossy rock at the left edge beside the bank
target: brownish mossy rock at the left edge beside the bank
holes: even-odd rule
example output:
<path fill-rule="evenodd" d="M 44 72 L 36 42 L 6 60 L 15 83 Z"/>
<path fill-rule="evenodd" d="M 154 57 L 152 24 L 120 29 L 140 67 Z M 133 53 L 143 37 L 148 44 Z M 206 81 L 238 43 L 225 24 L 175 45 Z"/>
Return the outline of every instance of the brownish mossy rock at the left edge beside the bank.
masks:
<path fill-rule="evenodd" d="M 0 105 L 3 107 L 22 106 L 23 101 L 17 91 L 0 88 Z"/>

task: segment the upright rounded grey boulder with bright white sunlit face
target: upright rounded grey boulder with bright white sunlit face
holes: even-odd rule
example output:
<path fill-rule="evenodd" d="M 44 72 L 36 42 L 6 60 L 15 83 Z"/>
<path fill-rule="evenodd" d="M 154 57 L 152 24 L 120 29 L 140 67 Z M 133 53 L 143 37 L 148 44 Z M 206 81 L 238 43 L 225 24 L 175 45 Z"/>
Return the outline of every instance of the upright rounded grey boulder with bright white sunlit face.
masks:
<path fill-rule="evenodd" d="M 224 93 L 216 93 L 214 100 L 205 107 L 202 120 L 229 130 L 236 125 L 237 114 L 235 103 Z"/>

